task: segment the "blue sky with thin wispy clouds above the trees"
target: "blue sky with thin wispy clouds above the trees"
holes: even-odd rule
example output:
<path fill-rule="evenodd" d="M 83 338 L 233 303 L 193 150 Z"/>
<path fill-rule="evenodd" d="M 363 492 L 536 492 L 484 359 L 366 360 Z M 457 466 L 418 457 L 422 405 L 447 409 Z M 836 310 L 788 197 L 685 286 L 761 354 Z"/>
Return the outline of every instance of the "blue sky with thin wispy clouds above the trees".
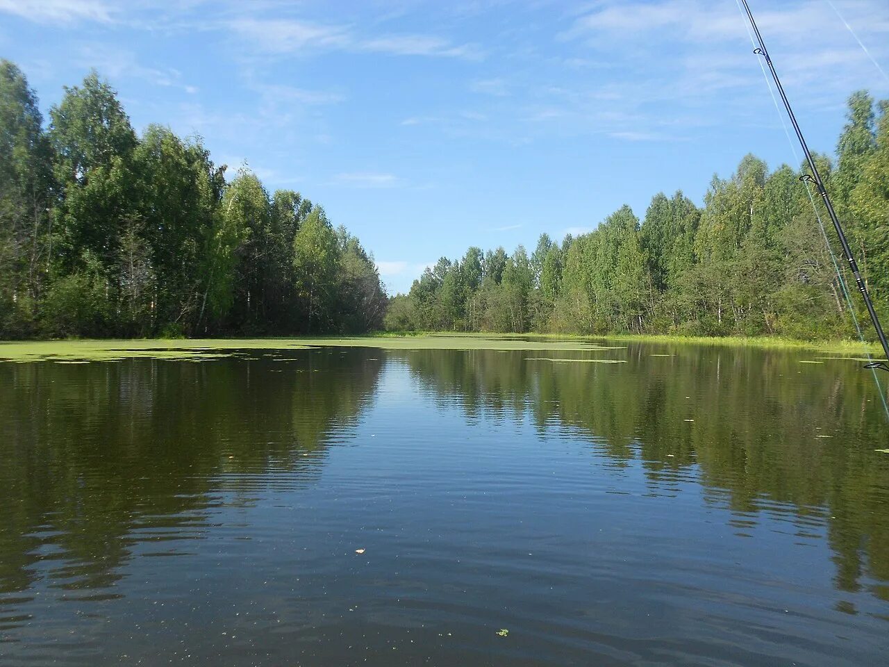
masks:
<path fill-rule="evenodd" d="M 889 98 L 887 0 L 749 0 L 810 147 Z M 390 292 L 469 245 L 530 250 L 745 154 L 798 164 L 736 0 L 0 0 L 44 117 L 96 68 L 141 132 L 324 205 Z M 798 149 L 797 149 L 798 151 Z"/>

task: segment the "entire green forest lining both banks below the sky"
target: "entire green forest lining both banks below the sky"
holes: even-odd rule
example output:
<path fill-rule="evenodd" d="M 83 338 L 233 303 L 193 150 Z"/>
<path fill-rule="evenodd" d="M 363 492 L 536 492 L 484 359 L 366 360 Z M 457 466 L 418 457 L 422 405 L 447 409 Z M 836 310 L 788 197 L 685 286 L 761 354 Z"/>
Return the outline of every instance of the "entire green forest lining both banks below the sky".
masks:
<path fill-rule="evenodd" d="M 816 160 L 886 313 L 889 100 L 853 93 L 836 157 Z M 642 220 L 624 205 L 589 234 L 542 234 L 531 253 L 471 246 L 389 298 L 372 254 L 320 205 L 228 173 L 199 137 L 164 125 L 137 136 L 95 72 L 44 126 L 25 75 L 0 60 L 0 337 L 854 337 L 847 289 L 866 313 L 804 173 L 748 155 L 702 206 L 659 193 Z"/>

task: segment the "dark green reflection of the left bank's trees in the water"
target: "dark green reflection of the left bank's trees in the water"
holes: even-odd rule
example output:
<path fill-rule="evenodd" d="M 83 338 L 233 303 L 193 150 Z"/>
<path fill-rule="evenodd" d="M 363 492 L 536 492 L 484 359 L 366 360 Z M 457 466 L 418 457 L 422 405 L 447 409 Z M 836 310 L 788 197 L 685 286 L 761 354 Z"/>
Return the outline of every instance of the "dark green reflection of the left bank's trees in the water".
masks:
<path fill-rule="evenodd" d="M 220 489 L 268 470 L 309 483 L 372 398 L 371 357 L 0 365 L 0 592 L 41 571 L 108 585 L 136 542 L 198 534 Z"/>

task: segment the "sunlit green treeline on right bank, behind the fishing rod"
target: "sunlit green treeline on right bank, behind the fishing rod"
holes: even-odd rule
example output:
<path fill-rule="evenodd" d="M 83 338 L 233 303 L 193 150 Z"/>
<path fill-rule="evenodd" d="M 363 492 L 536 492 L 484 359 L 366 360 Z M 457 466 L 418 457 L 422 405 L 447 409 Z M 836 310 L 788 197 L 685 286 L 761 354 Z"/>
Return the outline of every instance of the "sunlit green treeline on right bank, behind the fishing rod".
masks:
<path fill-rule="evenodd" d="M 889 324 L 889 100 L 875 105 L 867 92 L 854 93 L 836 165 L 816 159 Z M 443 257 L 410 293 L 389 301 L 387 328 L 852 335 L 800 175 L 787 165 L 770 173 L 749 155 L 732 178 L 713 178 L 702 208 L 682 192 L 661 193 L 641 224 L 623 206 L 595 231 L 561 244 L 541 235 L 530 256 L 519 245 L 509 255 L 470 247 L 461 260 Z M 839 268 L 867 319 L 820 198 Z"/>

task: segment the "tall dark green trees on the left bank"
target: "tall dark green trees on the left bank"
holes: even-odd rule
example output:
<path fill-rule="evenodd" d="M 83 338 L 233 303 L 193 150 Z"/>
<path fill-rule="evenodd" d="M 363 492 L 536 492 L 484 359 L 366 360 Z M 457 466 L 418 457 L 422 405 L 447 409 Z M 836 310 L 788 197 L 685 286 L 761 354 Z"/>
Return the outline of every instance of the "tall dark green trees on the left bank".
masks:
<path fill-rule="evenodd" d="M 291 190 L 230 181 L 199 139 L 139 138 L 95 73 L 44 129 L 0 60 L 0 337 L 364 332 L 372 257 Z"/>

